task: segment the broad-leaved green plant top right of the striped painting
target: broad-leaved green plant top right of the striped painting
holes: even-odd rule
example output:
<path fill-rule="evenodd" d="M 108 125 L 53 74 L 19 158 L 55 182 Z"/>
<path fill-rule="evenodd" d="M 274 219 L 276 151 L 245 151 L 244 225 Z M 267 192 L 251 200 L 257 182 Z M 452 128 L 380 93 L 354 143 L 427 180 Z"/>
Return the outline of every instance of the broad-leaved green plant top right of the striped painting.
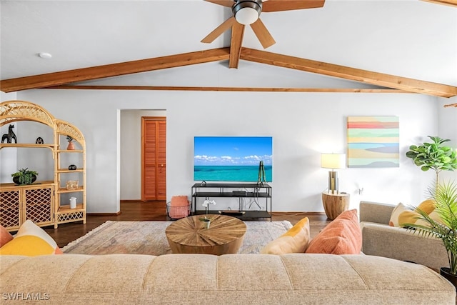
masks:
<path fill-rule="evenodd" d="M 431 143 L 409 146 L 406 156 L 413 159 L 414 164 L 420 166 L 422 171 L 433 169 L 436 173 L 436 187 L 438 187 L 440 171 L 457 169 L 457 151 L 451 147 L 443 146 L 443 143 L 451 141 L 449 139 L 441 139 L 438 136 L 428 136 L 428 138 L 432 140 Z"/>

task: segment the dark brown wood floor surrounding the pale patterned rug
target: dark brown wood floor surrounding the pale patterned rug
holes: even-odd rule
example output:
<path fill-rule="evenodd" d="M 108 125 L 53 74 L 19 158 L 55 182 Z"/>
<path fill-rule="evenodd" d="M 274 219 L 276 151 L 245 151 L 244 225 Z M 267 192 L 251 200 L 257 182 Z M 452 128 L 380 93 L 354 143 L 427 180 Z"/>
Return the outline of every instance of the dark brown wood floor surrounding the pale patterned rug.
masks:
<path fill-rule="evenodd" d="M 316 236 L 318 231 L 330 223 L 324 213 L 273 212 L 272 220 L 288 220 L 291 224 L 296 224 L 303 217 L 308 217 L 310 221 L 311 236 Z M 119 215 L 88 215 L 86 224 L 82 224 L 82 221 L 77 221 L 69 224 L 60 224 L 58 229 L 54 229 L 53 226 L 44 227 L 43 229 L 56 241 L 59 247 L 63 247 L 108 220 L 165 221 L 167 220 L 165 201 L 121 202 L 121 214 Z"/>

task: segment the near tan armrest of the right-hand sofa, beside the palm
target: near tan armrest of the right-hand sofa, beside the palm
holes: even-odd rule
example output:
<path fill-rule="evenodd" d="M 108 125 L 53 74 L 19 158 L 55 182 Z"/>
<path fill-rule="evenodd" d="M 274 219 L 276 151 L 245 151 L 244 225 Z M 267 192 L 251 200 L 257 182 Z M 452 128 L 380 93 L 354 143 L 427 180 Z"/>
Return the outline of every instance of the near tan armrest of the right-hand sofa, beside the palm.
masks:
<path fill-rule="evenodd" d="M 448 254 L 441 239 L 370 222 L 361 222 L 361 231 L 364 254 L 413 261 L 436 271 L 449 266 Z"/>

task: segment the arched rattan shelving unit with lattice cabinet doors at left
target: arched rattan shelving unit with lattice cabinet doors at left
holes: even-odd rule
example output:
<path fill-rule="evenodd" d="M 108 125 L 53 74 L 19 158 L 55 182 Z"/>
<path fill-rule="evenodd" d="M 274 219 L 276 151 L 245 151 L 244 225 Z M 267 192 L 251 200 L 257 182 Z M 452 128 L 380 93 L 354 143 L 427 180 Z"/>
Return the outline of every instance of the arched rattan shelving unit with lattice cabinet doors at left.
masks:
<path fill-rule="evenodd" d="M 51 150 L 54 159 L 54 181 L 36 181 L 29 186 L 0 184 L 0 224 L 9 231 L 19 229 L 26 219 L 39 226 L 72 221 L 86 223 L 86 142 L 81 131 L 69 122 L 54 118 L 46 109 L 29 101 L 5 101 L 0 104 L 0 126 L 15 121 L 35 121 L 53 129 L 51 144 L 0 144 L 0 149 L 46 148 Z M 66 149 L 66 136 L 71 136 L 78 149 Z M 76 156 L 76 170 L 68 169 L 66 155 Z M 79 186 L 66 189 L 69 176 L 77 176 Z M 75 194 L 79 201 L 71 209 L 64 197 Z"/>

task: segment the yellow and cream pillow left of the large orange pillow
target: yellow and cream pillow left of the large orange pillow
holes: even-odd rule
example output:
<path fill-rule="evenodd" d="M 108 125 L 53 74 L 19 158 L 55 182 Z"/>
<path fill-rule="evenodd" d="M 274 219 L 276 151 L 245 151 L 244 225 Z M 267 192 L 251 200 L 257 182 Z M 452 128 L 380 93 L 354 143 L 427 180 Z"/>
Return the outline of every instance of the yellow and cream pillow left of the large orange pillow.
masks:
<path fill-rule="evenodd" d="M 309 220 L 305 217 L 286 233 L 271 241 L 261 249 L 261 254 L 303 253 L 310 240 Z"/>

